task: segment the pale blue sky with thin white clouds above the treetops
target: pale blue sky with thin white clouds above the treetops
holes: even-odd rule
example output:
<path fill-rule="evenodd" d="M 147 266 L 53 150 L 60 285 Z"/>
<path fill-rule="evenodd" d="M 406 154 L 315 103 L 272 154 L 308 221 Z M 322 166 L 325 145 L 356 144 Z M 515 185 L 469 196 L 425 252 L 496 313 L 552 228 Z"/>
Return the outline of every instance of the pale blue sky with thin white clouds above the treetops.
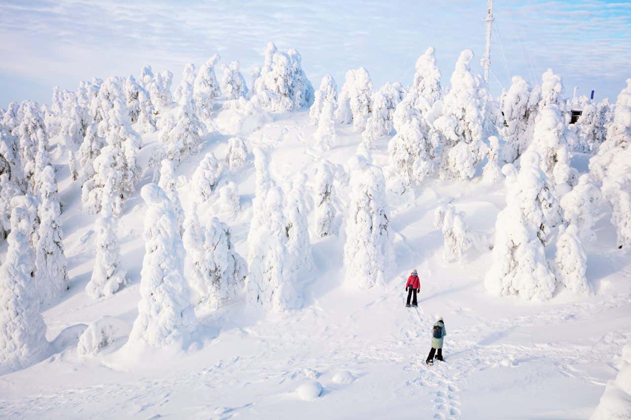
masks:
<path fill-rule="evenodd" d="M 439 4 L 440 3 L 440 4 Z M 460 50 L 484 49 L 486 1 L 0 1 L 0 106 L 50 102 L 52 86 L 138 74 L 143 64 L 169 69 L 218 52 L 239 60 L 246 80 L 268 41 L 295 47 L 317 86 L 338 85 L 347 69 L 366 67 L 375 85 L 408 85 L 416 57 L 436 48 L 444 85 Z M 615 96 L 631 77 L 631 2 L 495 1 L 493 93 L 520 74 L 535 83 L 552 67 L 565 95 L 596 89 Z"/>

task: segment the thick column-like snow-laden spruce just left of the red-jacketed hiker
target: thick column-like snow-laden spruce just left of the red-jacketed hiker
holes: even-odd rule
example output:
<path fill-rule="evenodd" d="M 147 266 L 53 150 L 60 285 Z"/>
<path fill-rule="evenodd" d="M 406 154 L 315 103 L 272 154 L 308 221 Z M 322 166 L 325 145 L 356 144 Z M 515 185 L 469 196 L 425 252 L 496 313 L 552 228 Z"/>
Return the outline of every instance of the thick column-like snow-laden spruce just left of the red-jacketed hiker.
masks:
<path fill-rule="evenodd" d="M 372 288 L 382 284 L 392 262 L 386 215 L 386 180 L 379 166 L 363 156 L 349 162 L 350 202 L 346 216 L 344 268 L 348 285 Z"/>

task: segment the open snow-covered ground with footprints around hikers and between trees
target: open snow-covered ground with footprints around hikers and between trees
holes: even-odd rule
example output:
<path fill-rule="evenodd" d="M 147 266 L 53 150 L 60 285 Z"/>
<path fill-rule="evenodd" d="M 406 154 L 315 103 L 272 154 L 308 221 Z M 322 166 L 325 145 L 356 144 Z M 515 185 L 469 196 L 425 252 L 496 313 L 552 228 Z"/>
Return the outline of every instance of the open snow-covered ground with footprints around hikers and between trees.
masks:
<path fill-rule="evenodd" d="M 215 107 L 213 115 L 218 112 Z M 266 149 L 272 178 L 283 185 L 299 172 L 310 177 L 319 155 L 310 147 L 315 127 L 307 109 L 271 114 L 253 131 L 235 133 L 230 124 L 203 138 L 203 148 L 177 168 L 185 211 L 192 206 L 192 173 L 208 151 L 224 156 L 227 139 L 241 134 L 250 151 Z M 211 119 L 212 120 L 212 119 Z M 345 164 L 355 155 L 360 134 L 336 127 L 327 158 Z M 387 141 L 372 151 L 375 165 L 387 165 Z M 158 134 L 143 136 L 138 161 L 146 168 Z M 64 161 L 52 150 L 57 163 Z M 586 170 L 588 155 L 572 165 Z M 597 240 L 586 245 L 587 279 L 593 295 L 567 289 L 534 303 L 490 295 L 484 276 L 492 252 L 472 247 L 447 263 L 434 211 L 451 202 L 466 213 L 471 231 L 492 235 L 505 206 L 503 185 L 425 180 L 416 197 L 387 193 L 387 216 L 396 255 L 384 284 L 364 288 L 345 280 L 345 235 L 312 236 L 315 268 L 300 279 L 301 310 L 264 311 L 244 293 L 217 311 L 198 308 L 198 334 L 186 349 L 124 347 L 138 315 L 144 254 L 146 206 L 139 190 L 151 182 L 145 169 L 136 193 L 119 219 L 122 265 L 129 284 L 94 300 L 85 293 L 95 257 L 95 216 L 81 210 L 80 184 L 67 166 L 57 172 L 70 289 L 42 308 L 49 357 L 27 369 L 0 376 L 3 418 L 587 418 L 604 386 L 616 375 L 614 356 L 630 338 L 631 259 L 616 248 L 608 216 L 596 223 Z M 480 175 L 480 173 L 478 173 Z M 232 241 L 247 255 L 252 218 L 254 164 L 225 175 L 239 188 L 242 211 L 223 219 Z M 340 190 L 341 194 L 348 191 Z M 345 209 L 338 209 L 339 229 Z M 202 223 L 214 210 L 199 208 Z M 310 219 L 311 221 L 311 219 Z M 6 244 L 3 245 L 3 252 Z M 418 308 L 404 306 L 405 281 L 418 269 Z M 80 356 L 78 336 L 102 317 L 114 325 L 114 342 L 95 355 Z M 430 329 L 444 317 L 446 363 L 425 365 Z M 315 384 L 319 383 L 319 385 Z M 319 390 L 321 386 L 321 390 Z M 319 396 L 318 396 L 319 394 Z"/>

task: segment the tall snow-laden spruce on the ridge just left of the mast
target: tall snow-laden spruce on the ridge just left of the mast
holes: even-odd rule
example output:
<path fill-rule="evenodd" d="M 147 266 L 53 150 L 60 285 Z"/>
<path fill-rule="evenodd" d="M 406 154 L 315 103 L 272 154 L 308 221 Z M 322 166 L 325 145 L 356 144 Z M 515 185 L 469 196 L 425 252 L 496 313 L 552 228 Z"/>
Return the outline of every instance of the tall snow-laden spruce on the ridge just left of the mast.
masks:
<path fill-rule="evenodd" d="M 434 121 L 442 137 L 440 178 L 469 179 L 486 153 L 482 141 L 482 110 L 487 86 L 471 72 L 471 50 L 461 52 L 444 99 L 444 115 Z"/>

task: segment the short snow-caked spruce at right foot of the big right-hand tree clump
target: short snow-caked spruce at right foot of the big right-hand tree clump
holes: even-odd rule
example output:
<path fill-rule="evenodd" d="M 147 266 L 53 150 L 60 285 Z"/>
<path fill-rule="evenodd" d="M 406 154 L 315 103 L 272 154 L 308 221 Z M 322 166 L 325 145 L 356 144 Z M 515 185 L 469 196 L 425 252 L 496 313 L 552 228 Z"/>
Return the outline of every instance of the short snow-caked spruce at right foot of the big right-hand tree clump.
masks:
<path fill-rule="evenodd" d="M 579 230 L 575 225 L 559 227 L 557 239 L 557 254 L 555 255 L 555 274 L 557 281 L 577 295 L 589 293 L 589 284 L 585 272 L 587 271 L 587 254 Z"/>

